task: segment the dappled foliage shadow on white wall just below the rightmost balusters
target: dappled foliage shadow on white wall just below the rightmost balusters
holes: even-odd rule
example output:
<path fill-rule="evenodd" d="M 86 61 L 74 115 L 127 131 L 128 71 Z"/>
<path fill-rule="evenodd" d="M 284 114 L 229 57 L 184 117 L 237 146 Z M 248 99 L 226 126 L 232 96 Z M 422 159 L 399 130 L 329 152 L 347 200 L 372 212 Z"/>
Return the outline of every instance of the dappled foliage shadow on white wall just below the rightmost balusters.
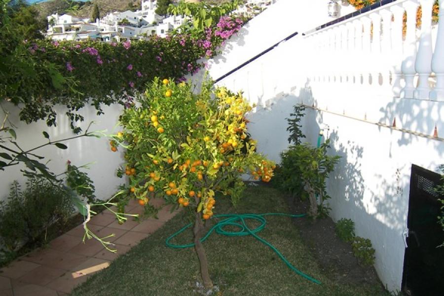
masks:
<path fill-rule="evenodd" d="M 444 102 L 395 98 L 380 111 L 383 116 L 379 122 L 393 124 L 396 119 L 397 127 L 430 136 L 434 135 L 436 127 L 438 136 L 441 138 L 444 136 Z M 403 133 L 401 139 L 398 140 L 398 145 L 408 146 L 416 137 L 412 134 Z M 432 142 L 440 156 L 444 156 L 444 149 L 438 149 L 442 142 Z"/>

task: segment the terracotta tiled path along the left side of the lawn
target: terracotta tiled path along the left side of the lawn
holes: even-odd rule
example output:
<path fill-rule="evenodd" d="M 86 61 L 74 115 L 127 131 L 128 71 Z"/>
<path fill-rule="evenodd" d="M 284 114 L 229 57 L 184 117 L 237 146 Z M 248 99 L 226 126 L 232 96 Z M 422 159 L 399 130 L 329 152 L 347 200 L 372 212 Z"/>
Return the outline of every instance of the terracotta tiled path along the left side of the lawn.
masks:
<path fill-rule="evenodd" d="M 152 199 L 150 204 L 160 205 L 161 199 Z M 111 253 L 94 239 L 82 243 L 83 226 L 79 225 L 51 241 L 47 248 L 37 249 L 7 267 L 0 269 L 0 296 L 59 296 L 70 293 L 73 288 L 86 281 L 94 272 L 107 268 L 117 256 L 125 254 L 131 247 L 156 231 L 178 212 L 170 213 L 164 207 L 157 219 L 142 222 L 128 219 L 122 225 L 115 216 L 105 211 L 91 218 L 89 228 L 99 237 L 111 233 L 109 238 L 117 249 Z M 130 202 L 126 212 L 140 214 L 143 207 L 135 201 Z"/>

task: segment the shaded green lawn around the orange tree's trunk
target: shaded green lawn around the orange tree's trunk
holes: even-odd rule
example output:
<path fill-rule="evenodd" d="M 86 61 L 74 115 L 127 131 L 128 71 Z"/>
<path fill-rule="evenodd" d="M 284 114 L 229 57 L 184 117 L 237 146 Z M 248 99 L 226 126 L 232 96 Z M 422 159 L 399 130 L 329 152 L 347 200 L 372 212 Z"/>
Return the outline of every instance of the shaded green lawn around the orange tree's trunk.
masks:
<path fill-rule="evenodd" d="M 249 186 L 237 208 L 230 206 L 226 197 L 217 198 L 216 214 L 266 212 L 289 212 L 283 196 L 269 187 Z M 110 267 L 77 287 L 72 295 L 196 295 L 193 287 L 199 280 L 199 264 L 194 250 L 165 246 L 165 239 L 185 225 L 184 217 L 185 213 L 174 217 L 130 252 L 114 260 Z M 222 292 L 218 295 L 389 295 L 378 285 L 353 287 L 335 283 L 308 253 L 291 218 L 271 216 L 266 219 L 267 225 L 259 236 L 273 244 L 296 268 L 320 280 L 322 285 L 291 271 L 274 252 L 251 236 L 224 237 L 214 233 L 204 242 L 204 247 L 211 277 Z M 188 231 L 174 243 L 188 243 L 191 239 L 191 231 Z"/>

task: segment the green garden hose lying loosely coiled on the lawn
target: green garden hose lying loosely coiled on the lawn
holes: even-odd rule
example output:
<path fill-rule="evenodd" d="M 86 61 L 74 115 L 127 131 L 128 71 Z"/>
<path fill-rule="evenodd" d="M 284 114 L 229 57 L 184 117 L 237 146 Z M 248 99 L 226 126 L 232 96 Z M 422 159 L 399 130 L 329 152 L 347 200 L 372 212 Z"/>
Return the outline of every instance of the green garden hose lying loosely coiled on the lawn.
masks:
<path fill-rule="evenodd" d="M 225 218 L 222 221 L 218 222 L 216 225 L 211 227 L 211 229 L 207 232 L 207 234 L 200 239 L 201 242 L 204 242 L 210 234 L 216 230 L 216 233 L 226 235 L 226 236 L 245 236 L 245 235 L 253 235 L 257 240 L 259 240 L 264 245 L 268 246 L 271 250 L 273 250 L 281 259 L 284 261 L 285 264 L 287 264 L 288 267 L 290 267 L 291 270 L 296 272 L 298 275 L 306 278 L 307 280 L 316 283 L 321 284 L 318 280 L 306 275 L 302 271 L 298 270 L 295 266 L 293 266 L 285 257 L 269 242 L 264 240 L 263 238 L 259 237 L 256 233 L 258 233 L 260 230 L 262 230 L 265 227 L 266 220 L 264 216 L 287 216 L 292 218 L 300 218 L 304 217 L 305 214 L 301 215 L 291 215 L 291 214 L 283 214 L 283 213 L 266 213 L 266 214 L 223 214 L 223 215 L 215 215 L 214 218 Z M 257 220 L 260 222 L 260 225 L 256 227 L 255 229 L 250 229 L 247 226 L 247 223 L 245 220 L 252 219 Z M 175 249 L 184 249 L 184 248 L 191 248 L 194 247 L 194 244 L 187 244 L 187 245 L 174 245 L 170 243 L 170 240 L 173 239 L 176 235 L 179 235 L 182 233 L 186 228 L 191 227 L 192 223 L 189 223 L 185 227 L 183 227 L 181 230 L 177 231 L 170 237 L 168 237 L 165 241 L 166 245 L 170 248 Z M 223 228 L 227 225 L 234 226 L 238 228 L 238 231 L 226 231 Z"/>

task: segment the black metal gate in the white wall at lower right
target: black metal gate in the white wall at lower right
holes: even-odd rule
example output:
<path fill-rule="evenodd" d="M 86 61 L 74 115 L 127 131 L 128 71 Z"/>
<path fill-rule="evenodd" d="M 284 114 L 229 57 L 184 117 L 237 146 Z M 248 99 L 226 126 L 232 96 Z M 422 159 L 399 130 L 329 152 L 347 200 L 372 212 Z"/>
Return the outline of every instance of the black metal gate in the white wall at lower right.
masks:
<path fill-rule="evenodd" d="M 438 223 L 441 202 L 435 188 L 441 175 L 412 165 L 408 201 L 403 292 L 408 296 L 444 295 L 444 232 Z"/>

